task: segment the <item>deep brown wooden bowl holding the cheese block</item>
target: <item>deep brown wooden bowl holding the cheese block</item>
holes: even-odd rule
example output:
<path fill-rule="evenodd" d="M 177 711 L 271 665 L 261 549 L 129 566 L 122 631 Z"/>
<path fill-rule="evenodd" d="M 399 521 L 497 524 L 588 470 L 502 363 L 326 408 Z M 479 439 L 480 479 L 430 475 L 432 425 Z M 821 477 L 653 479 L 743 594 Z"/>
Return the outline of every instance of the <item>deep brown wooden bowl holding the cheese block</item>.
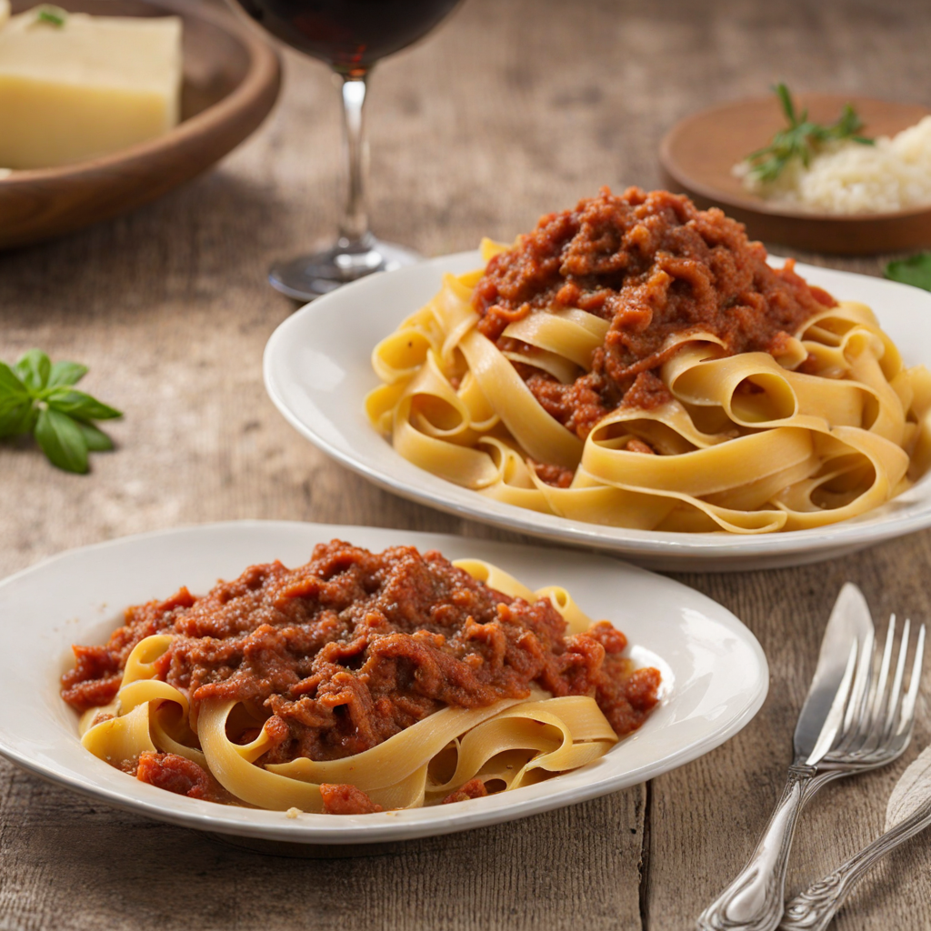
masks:
<path fill-rule="evenodd" d="M 109 220 L 189 181 L 262 123 L 277 99 L 276 52 L 231 14 L 190 0 L 56 0 L 71 12 L 184 21 L 182 122 L 113 155 L 0 179 L 0 249 Z M 14 13 L 36 6 L 13 0 Z"/>

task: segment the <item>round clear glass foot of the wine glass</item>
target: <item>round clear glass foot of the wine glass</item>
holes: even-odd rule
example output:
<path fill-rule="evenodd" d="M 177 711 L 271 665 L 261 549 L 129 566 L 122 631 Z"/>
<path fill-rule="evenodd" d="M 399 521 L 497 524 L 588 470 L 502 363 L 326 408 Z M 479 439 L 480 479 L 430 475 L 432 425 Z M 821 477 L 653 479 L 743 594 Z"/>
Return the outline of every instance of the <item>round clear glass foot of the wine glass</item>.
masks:
<path fill-rule="evenodd" d="M 337 243 L 322 252 L 276 263 L 268 280 L 282 294 L 297 301 L 313 301 L 374 272 L 390 272 L 421 261 L 410 249 L 367 236 L 359 243 Z"/>

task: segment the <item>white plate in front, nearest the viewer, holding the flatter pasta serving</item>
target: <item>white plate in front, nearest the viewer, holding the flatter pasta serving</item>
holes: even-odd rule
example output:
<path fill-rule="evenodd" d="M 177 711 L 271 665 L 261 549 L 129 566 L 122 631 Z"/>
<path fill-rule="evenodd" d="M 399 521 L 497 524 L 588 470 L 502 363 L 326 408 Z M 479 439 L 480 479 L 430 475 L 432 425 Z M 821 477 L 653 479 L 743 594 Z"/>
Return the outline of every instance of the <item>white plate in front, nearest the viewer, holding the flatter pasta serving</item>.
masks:
<path fill-rule="evenodd" d="M 182 585 L 205 592 L 253 562 L 299 565 L 338 536 L 371 549 L 412 544 L 498 563 L 531 587 L 569 588 L 582 608 L 628 636 L 634 658 L 660 669 L 664 695 L 641 729 L 573 773 L 501 795 L 381 815 L 256 811 L 155 789 L 84 749 L 59 695 L 72 643 L 100 643 L 129 604 Z M 760 644 L 721 605 L 615 560 L 439 534 L 273 521 L 207 524 L 75 549 L 0 583 L 0 752 L 103 802 L 188 828 L 298 843 L 398 841 L 509 821 L 635 785 L 735 735 L 766 696 Z"/>

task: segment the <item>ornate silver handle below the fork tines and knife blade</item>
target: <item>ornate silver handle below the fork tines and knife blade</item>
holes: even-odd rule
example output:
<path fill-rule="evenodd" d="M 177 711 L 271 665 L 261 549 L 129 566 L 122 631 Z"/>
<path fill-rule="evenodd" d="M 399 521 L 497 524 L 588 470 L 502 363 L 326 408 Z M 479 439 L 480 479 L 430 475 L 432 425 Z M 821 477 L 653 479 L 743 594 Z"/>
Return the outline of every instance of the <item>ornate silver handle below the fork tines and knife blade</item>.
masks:
<path fill-rule="evenodd" d="M 827 775 L 827 774 L 824 774 Z M 747 865 L 698 918 L 700 931 L 773 931 L 782 917 L 789 848 L 799 812 L 823 784 L 816 768 L 794 762 L 782 798 Z"/>

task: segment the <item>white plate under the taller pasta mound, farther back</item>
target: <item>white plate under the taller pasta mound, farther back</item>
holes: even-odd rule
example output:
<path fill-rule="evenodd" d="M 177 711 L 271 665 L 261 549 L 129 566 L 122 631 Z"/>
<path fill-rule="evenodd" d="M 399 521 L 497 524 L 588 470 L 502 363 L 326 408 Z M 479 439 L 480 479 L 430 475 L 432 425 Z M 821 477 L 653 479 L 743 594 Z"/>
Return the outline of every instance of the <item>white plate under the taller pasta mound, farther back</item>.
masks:
<path fill-rule="evenodd" d="M 492 501 L 413 466 L 369 424 L 378 385 L 374 345 L 439 290 L 444 272 L 480 265 L 478 252 L 433 259 L 318 298 L 285 320 L 265 347 L 265 387 L 291 425 L 337 461 L 415 501 L 535 536 L 622 553 L 656 569 L 726 572 L 815 562 L 931 526 L 931 476 L 857 519 L 816 530 L 745 536 L 602 527 Z M 870 304 L 906 363 L 931 365 L 931 294 L 881 278 L 799 265 L 840 299 Z"/>

